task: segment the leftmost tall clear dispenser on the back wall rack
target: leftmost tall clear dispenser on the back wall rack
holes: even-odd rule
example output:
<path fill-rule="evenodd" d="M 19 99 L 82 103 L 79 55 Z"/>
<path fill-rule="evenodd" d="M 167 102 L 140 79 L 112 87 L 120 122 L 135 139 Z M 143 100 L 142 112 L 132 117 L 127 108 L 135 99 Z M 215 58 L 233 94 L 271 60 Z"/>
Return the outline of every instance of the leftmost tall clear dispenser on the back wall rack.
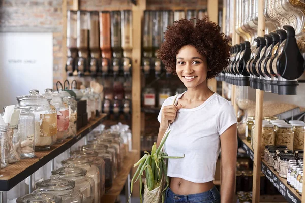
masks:
<path fill-rule="evenodd" d="M 67 62 L 68 76 L 77 75 L 75 71 L 77 59 L 77 11 L 67 11 Z"/>

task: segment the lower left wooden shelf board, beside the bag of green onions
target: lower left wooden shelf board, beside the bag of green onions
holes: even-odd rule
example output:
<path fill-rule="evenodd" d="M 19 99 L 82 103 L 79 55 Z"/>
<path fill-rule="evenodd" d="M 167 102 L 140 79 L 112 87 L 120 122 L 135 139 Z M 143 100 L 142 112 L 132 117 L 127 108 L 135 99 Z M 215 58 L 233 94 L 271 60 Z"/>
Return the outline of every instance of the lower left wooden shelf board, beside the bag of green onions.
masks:
<path fill-rule="evenodd" d="M 122 164 L 123 168 L 121 168 L 117 177 L 113 181 L 112 188 L 109 191 L 107 191 L 106 194 L 103 195 L 101 202 L 107 202 L 107 203 L 115 202 L 116 197 L 120 195 L 120 192 L 123 190 L 128 174 L 130 174 L 133 165 L 137 162 L 136 160 L 137 154 L 138 154 L 137 150 L 132 150 L 131 152 L 128 153 L 128 155 L 123 161 Z"/>

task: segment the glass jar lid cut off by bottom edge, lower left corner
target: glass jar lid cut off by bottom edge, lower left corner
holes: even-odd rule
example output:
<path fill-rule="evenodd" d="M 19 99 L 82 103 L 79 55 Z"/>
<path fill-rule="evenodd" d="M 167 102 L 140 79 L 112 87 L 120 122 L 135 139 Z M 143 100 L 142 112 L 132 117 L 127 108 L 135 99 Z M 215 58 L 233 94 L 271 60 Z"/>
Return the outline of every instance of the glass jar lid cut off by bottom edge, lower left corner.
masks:
<path fill-rule="evenodd" d="M 22 197 L 19 197 L 16 200 L 17 203 L 60 203 L 62 202 L 62 197 L 50 194 L 42 193 L 40 189 L 36 193 L 27 194 Z"/>

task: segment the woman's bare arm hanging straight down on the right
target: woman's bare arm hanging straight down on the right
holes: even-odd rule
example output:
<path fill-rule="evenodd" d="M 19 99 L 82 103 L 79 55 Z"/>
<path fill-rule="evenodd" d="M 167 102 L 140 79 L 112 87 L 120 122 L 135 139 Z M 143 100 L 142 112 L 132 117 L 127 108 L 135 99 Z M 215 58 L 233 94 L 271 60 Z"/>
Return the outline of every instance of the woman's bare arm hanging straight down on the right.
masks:
<path fill-rule="evenodd" d="M 221 143 L 221 202 L 233 202 L 237 159 L 237 124 L 220 136 Z"/>

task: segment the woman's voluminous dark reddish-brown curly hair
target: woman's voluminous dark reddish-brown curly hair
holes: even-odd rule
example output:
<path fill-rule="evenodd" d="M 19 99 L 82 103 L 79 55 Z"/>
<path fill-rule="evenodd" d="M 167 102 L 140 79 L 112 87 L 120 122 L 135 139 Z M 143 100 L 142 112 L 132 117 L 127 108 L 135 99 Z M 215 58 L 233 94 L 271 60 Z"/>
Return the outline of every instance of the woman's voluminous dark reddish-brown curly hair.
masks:
<path fill-rule="evenodd" d="M 168 72 L 176 74 L 176 55 L 185 45 L 194 46 L 207 59 L 207 79 L 217 76 L 229 64 L 229 40 L 221 33 L 220 26 L 208 17 L 192 20 L 181 19 L 167 27 L 164 43 L 158 50 L 158 58 Z"/>

